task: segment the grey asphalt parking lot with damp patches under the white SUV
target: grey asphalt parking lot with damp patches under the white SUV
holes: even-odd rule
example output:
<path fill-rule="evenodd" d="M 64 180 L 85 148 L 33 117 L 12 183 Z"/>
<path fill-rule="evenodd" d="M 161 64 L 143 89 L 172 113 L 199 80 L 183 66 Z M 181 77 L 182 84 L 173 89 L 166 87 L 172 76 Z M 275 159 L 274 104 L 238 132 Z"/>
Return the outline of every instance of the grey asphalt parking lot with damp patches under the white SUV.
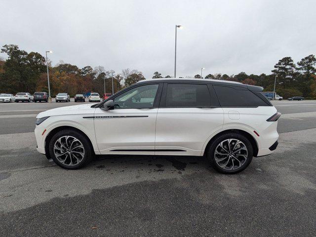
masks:
<path fill-rule="evenodd" d="M 315 100 L 274 101 L 276 152 L 235 175 L 196 157 L 61 169 L 36 151 L 35 117 L 74 104 L 0 104 L 0 236 L 315 236 Z"/>

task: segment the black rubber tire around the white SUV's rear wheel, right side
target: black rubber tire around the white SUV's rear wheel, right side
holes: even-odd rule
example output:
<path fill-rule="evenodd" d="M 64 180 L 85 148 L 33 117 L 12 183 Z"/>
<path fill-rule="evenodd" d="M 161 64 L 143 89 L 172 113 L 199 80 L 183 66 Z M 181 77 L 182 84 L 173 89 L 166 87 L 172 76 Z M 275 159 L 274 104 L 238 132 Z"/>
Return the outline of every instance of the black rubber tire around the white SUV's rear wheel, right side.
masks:
<path fill-rule="evenodd" d="M 236 167 L 232 170 L 225 169 L 226 166 L 224 168 L 221 167 L 217 163 L 217 162 L 221 162 L 221 161 L 215 160 L 215 149 L 217 148 L 217 146 L 219 146 L 219 144 L 221 142 L 226 141 L 228 139 L 233 139 L 231 146 L 234 145 L 234 140 L 236 139 L 236 140 L 241 141 L 243 143 L 243 145 L 245 146 L 245 148 L 247 149 L 247 156 L 246 156 L 247 158 L 243 158 L 242 156 L 236 156 L 236 154 L 233 154 L 233 152 L 232 152 L 232 155 L 235 155 L 236 157 L 229 157 L 230 155 L 227 155 L 227 158 L 225 158 L 226 155 L 225 156 L 218 155 L 218 156 L 221 156 L 220 158 L 224 158 L 224 160 L 223 160 L 224 163 L 227 160 L 228 165 L 231 165 L 232 167 L 233 167 L 233 164 L 234 164 L 234 167 L 236 164 L 239 165 L 239 167 Z M 225 143 L 226 142 L 224 142 L 223 144 L 225 145 Z M 226 146 L 226 148 L 228 148 L 228 147 Z M 224 150 L 222 150 L 222 151 L 224 151 Z M 238 157 L 238 159 L 237 159 L 237 157 Z M 212 142 L 212 144 L 209 146 L 209 150 L 208 150 L 208 158 L 210 159 L 211 164 L 213 165 L 213 167 L 217 171 L 224 173 L 224 174 L 236 174 L 236 173 L 241 172 L 242 170 L 247 168 L 247 166 L 250 164 L 252 157 L 253 157 L 253 147 L 252 147 L 250 141 L 245 136 L 238 134 L 238 133 L 226 133 L 226 134 L 220 135 Z M 244 159 L 244 161 L 243 161 L 243 159 Z M 235 163 L 234 163 L 234 160 L 235 160 Z M 239 164 L 238 164 L 238 162 L 239 162 L 238 160 L 241 161 Z"/>

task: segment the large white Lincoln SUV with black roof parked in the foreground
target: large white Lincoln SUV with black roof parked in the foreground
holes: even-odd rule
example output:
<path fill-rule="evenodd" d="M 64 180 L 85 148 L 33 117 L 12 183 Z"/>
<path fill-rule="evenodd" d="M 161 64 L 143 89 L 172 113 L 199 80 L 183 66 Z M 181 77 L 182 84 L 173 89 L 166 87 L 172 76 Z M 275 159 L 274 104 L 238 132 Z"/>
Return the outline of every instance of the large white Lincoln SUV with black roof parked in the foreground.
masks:
<path fill-rule="evenodd" d="M 211 79 L 149 79 L 99 104 L 37 116 L 37 150 L 77 169 L 92 155 L 207 156 L 222 173 L 273 153 L 280 113 L 262 87 Z M 106 135 L 107 134 L 107 135 Z"/>

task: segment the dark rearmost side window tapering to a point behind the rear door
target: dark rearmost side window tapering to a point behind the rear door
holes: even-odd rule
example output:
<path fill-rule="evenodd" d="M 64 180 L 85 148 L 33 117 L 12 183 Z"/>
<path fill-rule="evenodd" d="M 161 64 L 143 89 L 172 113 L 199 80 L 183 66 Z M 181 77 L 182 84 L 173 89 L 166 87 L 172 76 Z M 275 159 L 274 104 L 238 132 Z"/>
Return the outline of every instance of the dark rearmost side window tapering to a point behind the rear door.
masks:
<path fill-rule="evenodd" d="M 269 106 L 248 89 L 237 86 L 213 85 L 222 107 Z"/>

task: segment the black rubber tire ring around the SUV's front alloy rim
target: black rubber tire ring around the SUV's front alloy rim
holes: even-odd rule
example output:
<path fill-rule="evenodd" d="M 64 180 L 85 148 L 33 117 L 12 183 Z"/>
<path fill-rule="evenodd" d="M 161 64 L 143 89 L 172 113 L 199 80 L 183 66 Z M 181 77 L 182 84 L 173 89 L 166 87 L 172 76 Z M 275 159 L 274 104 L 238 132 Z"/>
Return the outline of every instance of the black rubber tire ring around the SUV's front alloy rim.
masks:
<path fill-rule="evenodd" d="M 61 161 L 59 161 L 56 158 L 55 153 L 54 153 L 54 144 L 59 138 L 61 138 L 63 136 L 75 137 L 83 145 L 84 156 L 78 164 L 67 165 L 67 164 L 62 163 Z M 92 157 L 92 148 L 91 148 L 91 145 L 90 145 L 88 139 L 83 134 L 81 134 L 78 131 L 72 130 L 72 129 L 65 129 L 65 130 L 61 130 L 61 131 L 57 132 L 50 139 L 50 141 L 49 141 L 49 155 L 57 165 L 59 165 L 60 167 L 62 167 L 64 169 L 79 169 L 79 168 L 87 165 L 90 162 L 91 157 Z M 73 159 L 73 160 L 76 160 L 76 159 Z"/>

